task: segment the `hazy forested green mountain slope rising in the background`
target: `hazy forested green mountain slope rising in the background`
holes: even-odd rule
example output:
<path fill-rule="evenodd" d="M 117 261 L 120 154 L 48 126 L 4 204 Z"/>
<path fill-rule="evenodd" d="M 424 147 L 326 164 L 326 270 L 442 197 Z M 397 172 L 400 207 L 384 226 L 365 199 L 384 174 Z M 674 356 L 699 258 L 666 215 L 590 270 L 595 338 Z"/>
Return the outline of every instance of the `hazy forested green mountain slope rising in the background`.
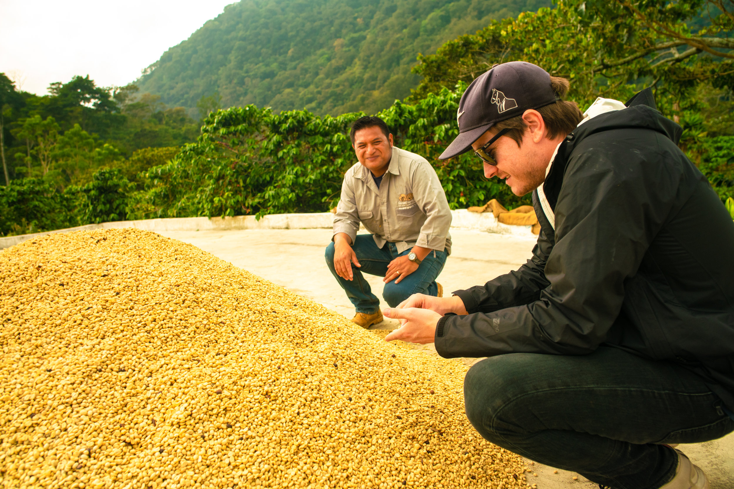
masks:
<path fill-rule="evenodd" d="M 202 98 L 276 111 L 375 113 L 418 84 L 419 53 L 550 0 L 242 0 L 136 82 L 197 114 Z M 211 104 L 211 99 L 209 100 Z"/>

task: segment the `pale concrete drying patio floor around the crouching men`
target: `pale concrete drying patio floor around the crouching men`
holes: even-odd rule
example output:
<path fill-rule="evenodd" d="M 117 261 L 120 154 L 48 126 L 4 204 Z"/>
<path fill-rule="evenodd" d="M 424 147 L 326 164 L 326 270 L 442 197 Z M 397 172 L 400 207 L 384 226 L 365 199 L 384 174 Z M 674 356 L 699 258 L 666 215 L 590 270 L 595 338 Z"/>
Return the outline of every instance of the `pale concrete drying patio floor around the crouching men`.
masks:
<path fill-rule="evenodd" d="M 157 230 L 161 235 L 192 243 L 222 260 L 265 279 L 305 295 L 346 317 L 354 315 L 352 304 L 324 263 L 324 248 L 330 242 L 330 229 L 244 229 L 172 231 Z M 482 284 L 501 273 L 517 269 L 531 255 L 534 239 L 529 236 L 501 235 L 490 232 L 451 229 L 453 249 L 438 282 L 446 294 L 452 290 Z M 381 297 L 382 279 L 367 276 L 374 293 Z M 373 328 L 395 328 L 387 320 Z M 421 347 L 434 354 L 432 345 Z M 451 361 L 451 360 L 446 360 Z M 473 359 L 464 359 L 472 363 Z M 734 488 L 734 433 L 704 444 L 679 447 L 701 466 L 711 479 L 711 489 Z M 597 489 L 584 477 L 573 477 L 540 464 L 530 466 L 539 489 Z"/>

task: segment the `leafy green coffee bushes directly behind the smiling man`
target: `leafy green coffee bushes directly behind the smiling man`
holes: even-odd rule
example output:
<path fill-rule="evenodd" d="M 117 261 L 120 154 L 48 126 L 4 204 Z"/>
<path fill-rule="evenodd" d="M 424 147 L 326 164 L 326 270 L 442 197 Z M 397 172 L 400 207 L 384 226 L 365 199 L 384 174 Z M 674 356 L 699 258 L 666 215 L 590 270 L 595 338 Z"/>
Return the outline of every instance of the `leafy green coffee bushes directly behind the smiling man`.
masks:
<path fill-rule="evenodd" d="M 499 197 L 519 202 L 509 188 L 479 177 L 473 155 L 450 163 L 435 158 L 458 133 L 454 121 L 460 92 L 443 89 L 414 105 L 396 102 L 379 116 L 396 145 L 435 161 L 451 207 Z M 356 162 L 349 124 L 363 113 L 339 117 L 256 106 L 211 114 L 196 144 L 170 163 L 147 173 L 134 215 L 233 216 L 328 210 L 338 201 L 341 181 Z M 450 122 L 449 122 L 450 121 Z"/>

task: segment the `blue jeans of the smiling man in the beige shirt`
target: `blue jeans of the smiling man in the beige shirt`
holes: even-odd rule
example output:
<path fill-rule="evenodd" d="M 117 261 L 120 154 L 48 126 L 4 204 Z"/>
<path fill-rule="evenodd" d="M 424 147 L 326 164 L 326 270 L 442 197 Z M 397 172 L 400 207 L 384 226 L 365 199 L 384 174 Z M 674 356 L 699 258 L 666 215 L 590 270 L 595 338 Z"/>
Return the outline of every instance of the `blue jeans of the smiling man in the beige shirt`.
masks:
<path fill-rule="evenodd" d="M 330 243 L 326 247 L 326 263 L 336 281 L 346 292 L 349 301 L 352 301 L 352 304 L 355 305 L 357 312 L 374 314 L 379 309 L 379 299 L 372 293 L 362 274 L 369 273 L 370 275 L 384 277 L 385 273 L 388 272 L 390 262 L 397 257 L 410 253 L 410 249 L 398 253 L 395 243 L 385 243 L 385 246 L 378 248 L 372 235 L 357 235 L 355 242 L 352 243 L 352 249 L 355 251 L 360 265 L 362 265 L 357 268 L 352 263 L 353 280 L 346 280 L 337 275 L 334 268 L 334 243 Z M 432 250 L 421 261 L 421 265 L 418 265 L 418 270 L 404 277 L 399 284 L 396 284 L 395 280 L 385 284 L 382 297 L 385 298 L 390 307 L 395 307 L 413 294 L 437 295 L 436 277 L 443 270 L 447 256 L 446 250 Z"/>

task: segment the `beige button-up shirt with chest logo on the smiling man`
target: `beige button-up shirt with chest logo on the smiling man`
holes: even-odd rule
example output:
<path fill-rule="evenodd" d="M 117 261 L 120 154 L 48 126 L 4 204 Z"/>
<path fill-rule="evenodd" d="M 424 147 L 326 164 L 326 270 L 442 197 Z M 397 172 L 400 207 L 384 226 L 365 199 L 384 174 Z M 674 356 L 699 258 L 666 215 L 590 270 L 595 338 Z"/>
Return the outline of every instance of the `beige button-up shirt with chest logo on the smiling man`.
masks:
<path fill-rule="evenodd" d="M 354 243 L 360 222 L 380 248 L 390 241 L 400 253 L 415 245 L 451 253 L 446 194 L 431 164 L 413 152 L 393 147 L 379 188 L 362 163 L 346 171 L 334 235 L 344 232 Z"/>

